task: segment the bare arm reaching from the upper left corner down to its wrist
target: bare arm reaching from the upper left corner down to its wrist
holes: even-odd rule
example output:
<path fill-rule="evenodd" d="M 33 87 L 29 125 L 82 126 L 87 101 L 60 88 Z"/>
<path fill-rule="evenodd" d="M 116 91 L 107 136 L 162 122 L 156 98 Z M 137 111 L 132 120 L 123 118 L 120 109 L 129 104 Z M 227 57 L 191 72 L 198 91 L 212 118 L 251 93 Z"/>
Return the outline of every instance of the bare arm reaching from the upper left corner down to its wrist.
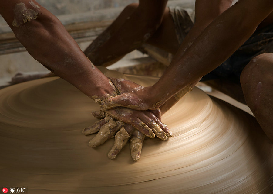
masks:
<path fill-rule="evenodd" d="M 25 12 L 38 17 L 25 22 Z M 0 1 L 0 13 L 30 55 L 50 71 L 89 97 L 105 98 L 114 92 L 109 79 L 91 64 L 61 22 L 37 2 Z"/>

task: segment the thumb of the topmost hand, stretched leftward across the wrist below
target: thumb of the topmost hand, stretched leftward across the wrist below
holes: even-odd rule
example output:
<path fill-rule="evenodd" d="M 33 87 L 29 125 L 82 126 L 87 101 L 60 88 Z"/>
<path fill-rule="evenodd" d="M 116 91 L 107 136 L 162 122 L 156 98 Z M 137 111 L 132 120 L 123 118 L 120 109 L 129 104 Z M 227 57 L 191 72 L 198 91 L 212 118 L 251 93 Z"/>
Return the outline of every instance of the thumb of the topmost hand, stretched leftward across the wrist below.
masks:
<path fill-rule="evenodd" d="M 126 107 L 134 110 L 142 110 L 137 104 L 141 104 L 138 100 L 128 93 L 123 93 L 115 97 L 106 98 L 100 104 L 100 107 L 103 109 L 110 109 L 114 107 Z"/>

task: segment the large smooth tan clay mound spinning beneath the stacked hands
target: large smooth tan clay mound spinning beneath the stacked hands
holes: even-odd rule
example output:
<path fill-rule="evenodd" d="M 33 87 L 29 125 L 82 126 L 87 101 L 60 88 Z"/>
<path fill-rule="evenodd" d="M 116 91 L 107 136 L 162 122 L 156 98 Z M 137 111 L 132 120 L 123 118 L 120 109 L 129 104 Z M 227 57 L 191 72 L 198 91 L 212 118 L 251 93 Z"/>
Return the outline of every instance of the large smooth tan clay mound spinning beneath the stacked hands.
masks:
<path fill-rule="evenodd" d="M 156 82 L 125 78 L 141 85 Z M 113 139 L 95 149 L 88 146 L 94 136 L 81 131 L 97 121 L 91 111 L 98 109 L 58 78 L 0 90 L 1 185 L 29 193 L 272 191 L 273 146 L 258 123 L 200 89 L 163 115 L 174 136 L 146 138 L 138 162 L 131 159 L 129 144 L 115 160 L 107 157 Z"/>

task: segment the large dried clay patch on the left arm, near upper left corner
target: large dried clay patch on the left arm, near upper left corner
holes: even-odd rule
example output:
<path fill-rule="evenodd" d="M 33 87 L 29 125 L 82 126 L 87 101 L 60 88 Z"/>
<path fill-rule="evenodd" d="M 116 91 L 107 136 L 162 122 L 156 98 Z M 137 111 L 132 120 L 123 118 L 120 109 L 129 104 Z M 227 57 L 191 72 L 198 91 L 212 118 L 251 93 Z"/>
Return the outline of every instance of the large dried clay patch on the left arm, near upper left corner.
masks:
<path fill-rule="evenodd" d="M 24 3 L 18 3 L 15 5 L 14 11 L 14 20 L 12 21 L 12 26 L 19 27 L 22 24 L 25 24 L 27 21 L 32 21 L 37 19 L 38 15 L 41 13 L 40 7 L 35 5 L 34 2 L 29 1 L 29 4 L 33 9 L 27 9 Z"/>

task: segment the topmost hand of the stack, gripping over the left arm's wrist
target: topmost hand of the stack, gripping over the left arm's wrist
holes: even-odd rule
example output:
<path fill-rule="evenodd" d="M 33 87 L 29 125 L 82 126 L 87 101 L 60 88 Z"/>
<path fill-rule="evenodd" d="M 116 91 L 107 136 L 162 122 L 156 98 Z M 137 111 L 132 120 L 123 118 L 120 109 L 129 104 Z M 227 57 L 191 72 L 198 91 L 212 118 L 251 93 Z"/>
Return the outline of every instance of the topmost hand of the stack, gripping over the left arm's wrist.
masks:
<path fill-rule="evenodd" d="M 119 90 L 120 95 L 110 97 L 101 103 L 103 109 L 126 107 L 134 110 L 155 110 L 160 107 L 160 102 L 153 102 L 149 96 L 149 87 L 144 88 L 126 79 L 109 78 Z"/>

